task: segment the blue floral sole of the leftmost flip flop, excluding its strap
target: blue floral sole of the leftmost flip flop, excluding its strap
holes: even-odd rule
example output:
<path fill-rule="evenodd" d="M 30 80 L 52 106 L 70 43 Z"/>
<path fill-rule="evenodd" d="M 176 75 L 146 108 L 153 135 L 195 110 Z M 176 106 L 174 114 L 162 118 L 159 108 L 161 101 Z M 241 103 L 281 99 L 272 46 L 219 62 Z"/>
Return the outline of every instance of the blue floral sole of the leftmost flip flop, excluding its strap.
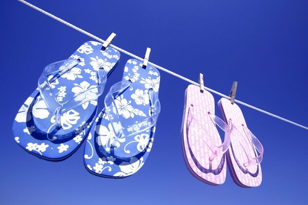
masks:
<path fill-rule="evenodd" d="M 64 102 L 91 86 L 98 85 L 97 71 L 103 67 L 110 74 L 120 53 L 102 44 L 87 42 L 70 56 L 78 65 L 60 76 L 48 76 L 57 100 Z M 55 131 L 55 117 L 48 110 L 36 89 L 18 111 L 13 123 L 13 135 L 23 149 L 47 160 L 63 160 L 70 156 L 85 139 L 97 113 L 97 99 L 68 110 L 61 116 L 62 128 Z M 56 133 L 55 133 L 56 132 Z M 53 134 L 57 139 L 53 139 Z M 51 136 L 49 136 L 51 135 Z"/>

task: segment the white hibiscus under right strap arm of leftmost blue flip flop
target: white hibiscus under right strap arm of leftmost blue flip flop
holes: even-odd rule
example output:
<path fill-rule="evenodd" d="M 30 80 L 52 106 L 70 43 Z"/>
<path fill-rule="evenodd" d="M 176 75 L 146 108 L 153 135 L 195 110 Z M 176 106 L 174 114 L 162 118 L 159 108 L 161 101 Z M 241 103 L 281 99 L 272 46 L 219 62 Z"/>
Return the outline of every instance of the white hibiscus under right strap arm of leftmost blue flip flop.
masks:
<path fill-rule="evenodd" d="M 90 100 L 90 103 L 94 106 L 97 105 L 97 101 L 94 100 L 97 98 L 98 95 L 98 89 L 95 88 L 95 86 L 90 86 L 90 84 L 87 81 L 83 81 L 79 84 L 74 84 L 75 87 L 72 88 L 72 92 L 75 93 L 75 101 L 83 101 L 83 100 Z M 94 89 L 93 89 L 94 88 Z M 89 90 L 91 89 L 91 90 Z M 85 92 L 89 90 L 88 92 Z M 91 100 L 92 99 L 92 100 Z M 89 101 L 86 101 L 86 103 L 82 104 L 83 109 L 87 109 L 89 105 Z"/>

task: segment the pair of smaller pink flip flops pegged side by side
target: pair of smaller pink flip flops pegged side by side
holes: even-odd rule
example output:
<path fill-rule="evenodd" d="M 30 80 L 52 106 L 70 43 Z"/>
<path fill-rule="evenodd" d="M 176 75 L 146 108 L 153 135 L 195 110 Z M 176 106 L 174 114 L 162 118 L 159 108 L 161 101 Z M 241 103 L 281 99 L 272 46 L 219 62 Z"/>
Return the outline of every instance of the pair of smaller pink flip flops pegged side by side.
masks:
<path fill-rule="evenodd" d="M 241 109 L 221 98 L 215 115 L 213 95 L 189 85 L 185 91 L 182 121 L 182 149 L 189 172 L 209 185 L 226 179 L 226 163 L 234 182 L 240 187 L 257 187 L 262 181 L 260 162 L 263 147 L 248 130 Z M 224 131 L 222 141 L 218 129 Z"/>

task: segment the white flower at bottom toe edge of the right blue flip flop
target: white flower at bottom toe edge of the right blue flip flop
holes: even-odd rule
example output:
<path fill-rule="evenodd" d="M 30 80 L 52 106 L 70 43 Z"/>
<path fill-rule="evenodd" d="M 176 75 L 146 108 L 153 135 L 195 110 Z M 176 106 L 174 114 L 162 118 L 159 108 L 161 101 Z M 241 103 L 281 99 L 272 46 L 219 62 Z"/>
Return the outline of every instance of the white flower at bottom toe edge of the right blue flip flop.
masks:
<path fill-rule="evenodd" d="M 122 162 L 119 167 L 121 172 L 115 173 L 113 176 L 129 176 L 136 173 L 143 166 L 143 157 L 138 160 L 136 157 L 131 157 L 130 161 Z"/>

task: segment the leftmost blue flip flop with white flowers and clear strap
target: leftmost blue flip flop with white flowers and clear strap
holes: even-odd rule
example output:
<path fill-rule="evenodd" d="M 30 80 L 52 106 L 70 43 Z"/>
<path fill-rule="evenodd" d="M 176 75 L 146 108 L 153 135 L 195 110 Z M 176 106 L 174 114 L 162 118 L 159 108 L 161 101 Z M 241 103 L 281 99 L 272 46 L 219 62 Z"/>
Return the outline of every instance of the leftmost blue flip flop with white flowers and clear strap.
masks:
<path fill-rule="evenodd" d="M 18 145 L 48 160 L 70 156 L 89 132 L 97 98 L 119 59 L 119 51 L 87 42 L 68 59 L 48 65 L 15 117 Z"/>

